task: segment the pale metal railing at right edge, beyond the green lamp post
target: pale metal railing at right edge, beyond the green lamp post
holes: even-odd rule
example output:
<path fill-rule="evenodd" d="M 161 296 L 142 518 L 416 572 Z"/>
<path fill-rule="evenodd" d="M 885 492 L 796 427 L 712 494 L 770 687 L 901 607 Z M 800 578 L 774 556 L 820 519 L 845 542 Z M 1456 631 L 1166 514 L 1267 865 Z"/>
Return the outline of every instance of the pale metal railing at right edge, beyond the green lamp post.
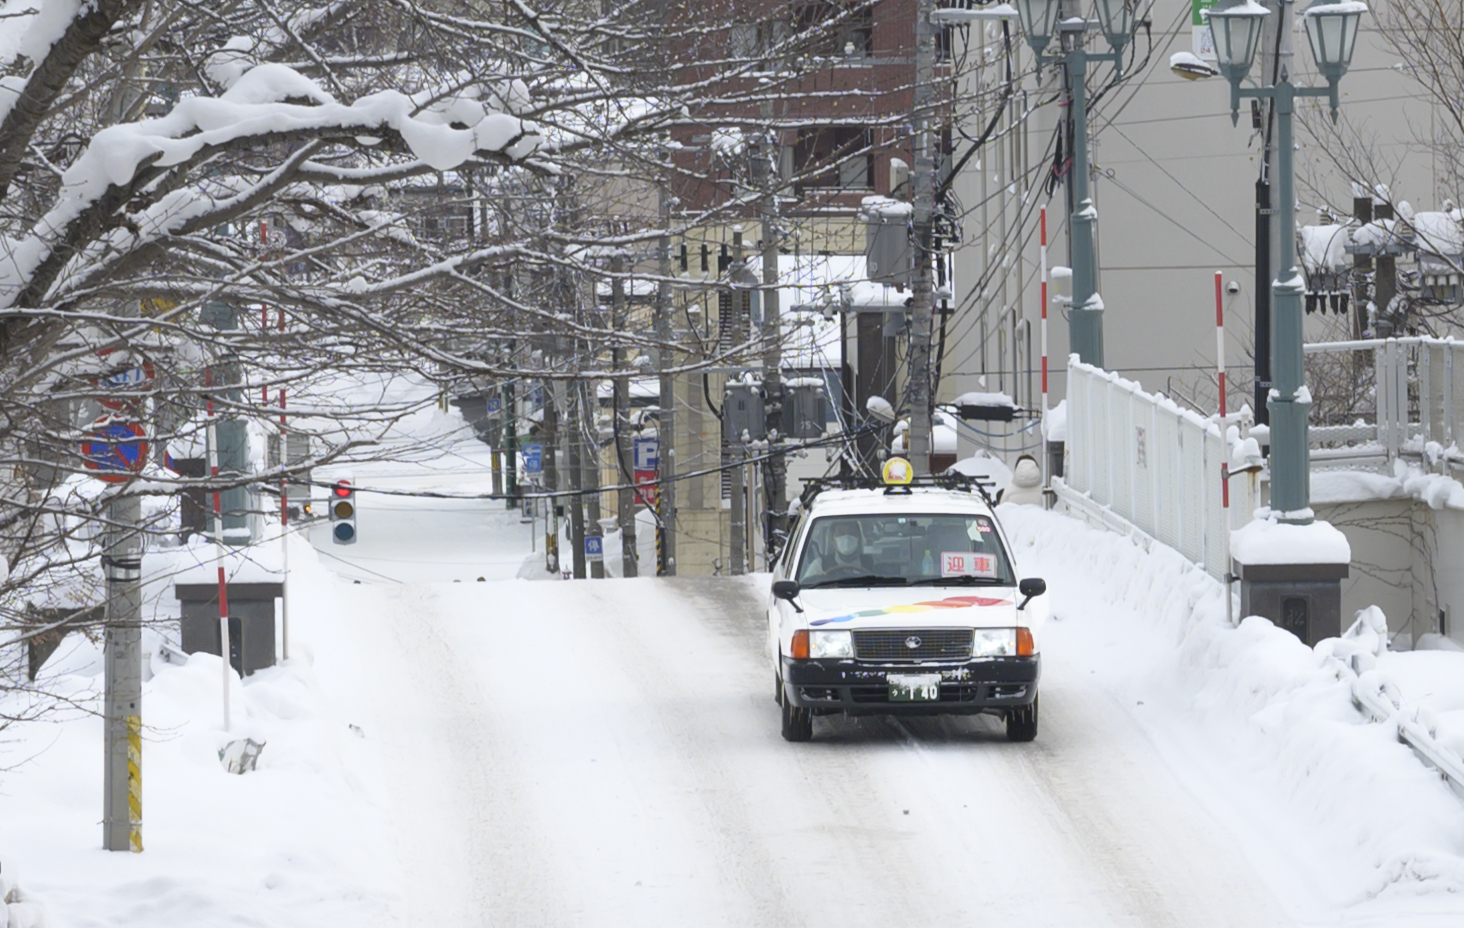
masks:
<path fill-rule="evenodd" d="M 1464 341 L 1383 338 L 1304 345 L 1307 354 L 1372 353 L 1376 408 L 1351 424 L 1310 427 L 1312 467 L 1389 470 L 1398 455 L 1464 465 Z M 1460 376 L 1455 378 L 1455 370 Z M 1435 445 L 1433 449 L 1429 445 Z"/>

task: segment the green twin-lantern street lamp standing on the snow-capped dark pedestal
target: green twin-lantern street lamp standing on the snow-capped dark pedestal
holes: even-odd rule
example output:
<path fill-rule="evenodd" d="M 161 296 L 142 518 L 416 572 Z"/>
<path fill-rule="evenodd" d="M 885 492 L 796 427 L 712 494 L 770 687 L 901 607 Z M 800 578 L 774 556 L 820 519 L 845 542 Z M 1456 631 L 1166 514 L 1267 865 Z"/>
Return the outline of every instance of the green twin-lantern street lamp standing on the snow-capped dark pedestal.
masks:
<path fill-rule="evenodd" d="M 1282 16 L 1288 4 L 1282 3 Z M 1326 86 L 1296 86 L 1282 72 L 1271 86 L 1240 86 L 1250 73 L 1261 35 L 1261 22 L 1271 10 L 1255 0 L 1240 0 L 1224 9 L 1209 10 L 1215 35 L 1215 57 L 1220 72 L 1230 81 L 1230 119 L 1240 119 L 1240 100 L 1271 100 L 1277 113 L 1277 214 L 1282 242 L 1296 237 L 1296 168 L 1291 117 L 1297 97 L 1326 97 L 1337 120 L 1337 82 L 1347 73 L 1357 44 L 1357 26 L 1366 3 L 1347 0 L 1313 3 L 1304 13 L 1306 35 L 1312 45 L 1316 69 L 1326 78 Z M 1285 23 L 1282 23 L 1284 28 Z M 1307 414 L 1312 397 L 1306 389 L 1301 356 L 1301 291 L 1304 284 L 1296 269 L 1296 249 L 1281 249 L 1284 269 L 1271 284 L 1271 509 L 1281 521 L 1306 524 L 1312 521 L 1310 446 Z"/>

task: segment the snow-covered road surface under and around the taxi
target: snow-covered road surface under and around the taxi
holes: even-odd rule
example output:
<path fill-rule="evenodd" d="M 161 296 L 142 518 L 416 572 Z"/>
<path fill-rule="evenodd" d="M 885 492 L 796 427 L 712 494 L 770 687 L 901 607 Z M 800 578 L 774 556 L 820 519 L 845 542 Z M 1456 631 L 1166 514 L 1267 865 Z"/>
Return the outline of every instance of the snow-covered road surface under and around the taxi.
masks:
<path fill-rule="evenodd" d="M 777 733 L 755 581 L 357 587 L 360 698 L 433 925 L 1288 925 L 1097 685 Z M 385 606 L 385 607 L 384 607 Z"/>

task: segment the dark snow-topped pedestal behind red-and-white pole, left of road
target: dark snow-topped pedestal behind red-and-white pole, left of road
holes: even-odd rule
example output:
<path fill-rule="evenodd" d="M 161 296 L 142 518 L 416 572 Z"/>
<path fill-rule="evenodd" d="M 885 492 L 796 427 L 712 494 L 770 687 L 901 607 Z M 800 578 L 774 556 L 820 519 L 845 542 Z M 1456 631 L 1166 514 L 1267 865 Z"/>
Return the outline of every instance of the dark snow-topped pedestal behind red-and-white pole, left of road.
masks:
<path fill-rule="evenodd" d="M 173 587 L 183 610 L 183 651 L 220 653 L 218 584 L 180 583 Z M 274 666 L 274 602 L 284 596 L 278 583 L 231 583 L 228 594 L 228 663 L 240 676 Z"/>

